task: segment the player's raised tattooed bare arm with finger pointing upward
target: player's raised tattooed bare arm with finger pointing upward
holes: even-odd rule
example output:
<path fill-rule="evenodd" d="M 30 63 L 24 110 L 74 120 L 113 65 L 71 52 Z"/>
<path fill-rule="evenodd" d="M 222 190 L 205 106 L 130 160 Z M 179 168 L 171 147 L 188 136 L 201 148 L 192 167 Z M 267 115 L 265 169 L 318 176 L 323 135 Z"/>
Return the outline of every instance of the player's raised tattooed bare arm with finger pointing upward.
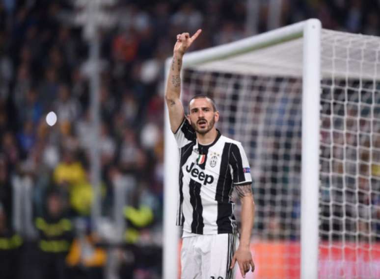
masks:
<path fill-rule="evenodd" d="M 198 29 L 192 37 L 190 37 L 189 33 L 178 34 L 177 42 L 174 45 L 173 60 L 167 77 L 165 92 L 172 132 L 177 131 L 185 115 L 184 107 L 180 101 L 182 58 L 201 32 L 202 30 Z"/>

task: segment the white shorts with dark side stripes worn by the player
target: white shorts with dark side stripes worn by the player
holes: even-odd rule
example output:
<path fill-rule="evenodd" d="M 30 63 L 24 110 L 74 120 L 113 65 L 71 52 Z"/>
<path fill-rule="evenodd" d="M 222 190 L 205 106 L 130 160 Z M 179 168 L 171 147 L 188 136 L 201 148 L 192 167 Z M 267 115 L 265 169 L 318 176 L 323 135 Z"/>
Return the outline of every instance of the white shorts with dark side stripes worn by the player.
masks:
<path fill-rule="evenodd" d="M 238 245 L 238 235 L 231 233 L 184 237 L 181 279 L 235 279 L 238 264 L 230 266 Z"/>

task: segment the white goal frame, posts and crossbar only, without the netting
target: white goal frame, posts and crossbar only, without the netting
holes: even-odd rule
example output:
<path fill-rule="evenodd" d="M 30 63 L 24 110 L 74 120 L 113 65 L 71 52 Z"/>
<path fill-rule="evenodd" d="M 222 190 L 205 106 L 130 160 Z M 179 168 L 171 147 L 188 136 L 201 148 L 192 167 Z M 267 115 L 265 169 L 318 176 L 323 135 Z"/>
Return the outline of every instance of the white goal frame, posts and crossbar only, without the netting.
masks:
<path fill-rule="evenodd" d="M 300 244 L 301 279 L 318 278 L 319 247 L 319 139 L 321 90 L 321 29 L 309 19 L 233 43 L 185 54 L 182 69 L 303 38 L 302 161 Z M 165 61 L 165 86 L 172 57 Z M 304 144 L 307 143 L 307 144 Z M 177 279 L 180 231 L 175 225 L 179 152 L 164 109 L 163 278 Z"/>

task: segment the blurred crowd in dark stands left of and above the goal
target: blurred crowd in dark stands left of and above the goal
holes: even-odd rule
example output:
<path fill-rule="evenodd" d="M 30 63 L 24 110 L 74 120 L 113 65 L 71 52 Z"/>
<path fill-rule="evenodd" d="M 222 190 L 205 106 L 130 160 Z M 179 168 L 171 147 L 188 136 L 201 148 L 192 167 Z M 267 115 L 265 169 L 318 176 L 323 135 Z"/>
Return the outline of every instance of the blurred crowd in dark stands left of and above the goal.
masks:
<path fill-rule="evenodd" d="M 120 0 L 108 9 L 117 21 L 100 30 L 98 142 L 104 217 L 111 216 L 116 181 L 133 181 L 126 248 L 117 254 L 122 278 L 161 276 L 163 69 L 176 34 L 202 28 L 193 50 L 252 35 L 246 2 Z M 2 278 L 105 276 L 109 247 L 91 233 L 89 48 L 74 12 L 71 0 L 0 1 Z M 282 0 L 279 25 L 317 17 L 325 28 L 380 35 L 379 12 L 376 0 Z M 261 1 L 257 33 L 268 30 L 268 13 Z M 52 127 L 50 111 L 57 115 Z M 25 181 L 34 228 L 28 233 L 12 218 L 24 203 L 14 189 Z M 158 248 L 136 248 L 147 240 Z"/>

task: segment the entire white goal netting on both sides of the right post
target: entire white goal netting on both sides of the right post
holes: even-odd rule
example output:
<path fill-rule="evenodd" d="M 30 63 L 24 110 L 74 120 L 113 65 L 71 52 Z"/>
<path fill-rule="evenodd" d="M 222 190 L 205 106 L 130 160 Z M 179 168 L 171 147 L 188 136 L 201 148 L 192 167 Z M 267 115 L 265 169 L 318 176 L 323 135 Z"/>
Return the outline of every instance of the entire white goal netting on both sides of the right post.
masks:
<path fill-rule="evenodd" d="M 376 279 L 380 39 L 329 30 L 321 39 L 319 278 Z M 260 279 L 299 278 L 301 57 L 302 39 L 295 39 L 183 75 L 184 105 L 195 94 L 213 97 L 221 115 L 217 127 L 247 152 Z"/>

